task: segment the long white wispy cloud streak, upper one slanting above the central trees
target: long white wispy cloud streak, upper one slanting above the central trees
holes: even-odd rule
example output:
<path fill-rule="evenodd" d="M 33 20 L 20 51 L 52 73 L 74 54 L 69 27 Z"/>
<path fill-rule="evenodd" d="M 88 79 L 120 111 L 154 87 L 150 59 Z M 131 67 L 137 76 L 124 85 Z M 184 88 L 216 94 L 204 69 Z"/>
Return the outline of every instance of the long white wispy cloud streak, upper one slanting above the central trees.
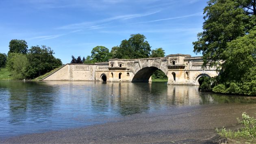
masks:
<path fill-rule="evenodd" d="M 76 23 L 76 24 L 69 24 L 66 26 L 61 26 L 57 29 L 81 29 L 81 28 L 92 28 L 96 26 L 100 26 L 99 24 L 104 23 L 104 22 L 109 22 L 109 21 L 114 21 L 114 20 L 126 20 L 126 19 L 132 19 L 136 17 L 145 17 L 148 15 L 153 15 L 155 13 L 159 13 L 160 11 L 155 11 L 152 13 L 140 13 L 140 14 L 130 14 L 130 15 L 119 15 L 115 17 L 109 17 L 106 19 L 101 19 L 98 21 L 91 21 L 91 22 L 81 22 L 81 23 Z M 106 24 L 104 24 L 106 25 Z"/>

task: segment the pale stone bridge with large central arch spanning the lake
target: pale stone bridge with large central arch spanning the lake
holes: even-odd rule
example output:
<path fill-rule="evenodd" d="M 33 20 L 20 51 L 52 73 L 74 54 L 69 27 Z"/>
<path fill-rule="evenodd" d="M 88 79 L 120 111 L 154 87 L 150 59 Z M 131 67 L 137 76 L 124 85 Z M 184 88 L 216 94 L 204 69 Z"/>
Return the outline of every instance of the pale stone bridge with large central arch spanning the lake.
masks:
<path fill-rule="evenodd" d="M 202 76 L 214 77 L 215 67 L 202 69 L 202 57 L 170 54 L 161 58 L 110 59 L 95 64 L 65 64 L 42 80 L 89 80 L 106 82 L 150 82 L 154 71 L 167 75 L 168 84 L 199 85 Z"/>

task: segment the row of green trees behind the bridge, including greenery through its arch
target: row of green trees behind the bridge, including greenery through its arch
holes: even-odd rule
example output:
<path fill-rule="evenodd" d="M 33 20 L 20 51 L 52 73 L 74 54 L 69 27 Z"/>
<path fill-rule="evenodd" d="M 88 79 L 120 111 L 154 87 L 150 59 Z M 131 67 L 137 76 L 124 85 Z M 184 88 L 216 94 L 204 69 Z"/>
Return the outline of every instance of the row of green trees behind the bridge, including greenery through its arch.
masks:
<path fill-rule="evenodd" d="M 93 64 L 95 62 L 107 62 L 111 58 L 119 59 L 132 59 L 132 58 L 156 58 L 164 57 L 165 50 L 163 48 L 156 48 L 151 50 L 151 46 L 148 41 L 145 41 L 146 37 L 143 34 L 131 34 L 128 40 L 121 41 L 118 46 L 112 47 L 111 51 L 104 46 L 96 46 L 91 50 L 91 56 L 81 56 L 75 58 L 73 55 L 70 63 L 85 63 Z M 166 79 L 167 76 L 163 71 L 157 70 L 153 73 L 152 78 Z"/>

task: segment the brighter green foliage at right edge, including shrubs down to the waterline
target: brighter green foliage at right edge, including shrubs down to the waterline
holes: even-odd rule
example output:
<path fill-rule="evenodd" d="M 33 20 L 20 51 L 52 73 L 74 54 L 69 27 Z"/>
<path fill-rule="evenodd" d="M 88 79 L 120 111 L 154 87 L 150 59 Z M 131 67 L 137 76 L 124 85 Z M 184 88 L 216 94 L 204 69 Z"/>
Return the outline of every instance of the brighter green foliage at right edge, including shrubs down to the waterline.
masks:
<path fill-rule="evenodd" d="M 256 30 L 228 43 L 217 93 L 256 95 Z"/>

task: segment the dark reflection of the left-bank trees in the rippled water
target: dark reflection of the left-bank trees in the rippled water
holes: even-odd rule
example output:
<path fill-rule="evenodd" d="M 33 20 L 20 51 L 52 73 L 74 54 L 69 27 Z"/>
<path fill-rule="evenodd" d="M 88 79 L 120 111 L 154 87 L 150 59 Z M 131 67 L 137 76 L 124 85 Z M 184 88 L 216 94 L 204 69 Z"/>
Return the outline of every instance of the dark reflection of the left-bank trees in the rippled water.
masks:
<path fill-rule="evenodd" d="M 10 123 L 37 120 L 52 114 L 54 89 L 41 82 L 6 81 L 1 88 L 9 90 Z"/>

